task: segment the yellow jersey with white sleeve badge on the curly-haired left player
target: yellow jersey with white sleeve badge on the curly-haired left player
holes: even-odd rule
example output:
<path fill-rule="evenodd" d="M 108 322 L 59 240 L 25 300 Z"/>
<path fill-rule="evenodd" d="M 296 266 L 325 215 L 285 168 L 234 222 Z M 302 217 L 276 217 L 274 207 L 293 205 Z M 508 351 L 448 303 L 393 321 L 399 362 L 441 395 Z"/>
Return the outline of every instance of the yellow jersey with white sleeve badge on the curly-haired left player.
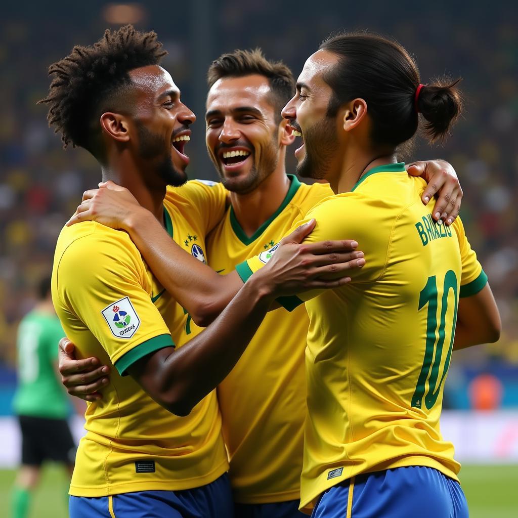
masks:
<path fill-rule="evenodd" d="M 198 210 L 209 189 L 189 182 L 168 189 L 164 200 L 167 231 L 200 261 L 205 235 L 224 213 L 221 200 Z M 178 417 L 126 376 L 134 362 L 172 346 L 173 339 L 176 347 L 182 346 L 176 337 L 186 315 L 125 232 L 95 222 L 63 228 L 54 257 L 52 298 L 78 357 L 96 356 L 114 366 L 103 399 L 88 404 L 87 433 L 79 444 L 71 495 L 185 490 L 227 471 L 215 392 L 188 416 Z"/>

